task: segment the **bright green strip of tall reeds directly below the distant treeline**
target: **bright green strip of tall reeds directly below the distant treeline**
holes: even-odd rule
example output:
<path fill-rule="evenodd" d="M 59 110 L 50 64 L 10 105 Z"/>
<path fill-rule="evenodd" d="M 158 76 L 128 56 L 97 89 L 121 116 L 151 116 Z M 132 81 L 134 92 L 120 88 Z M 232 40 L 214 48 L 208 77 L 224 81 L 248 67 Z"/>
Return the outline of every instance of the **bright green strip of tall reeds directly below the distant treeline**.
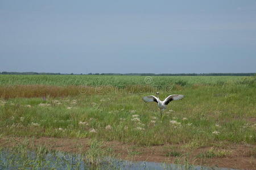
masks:
<path fill-rule="evenodd" d="M 128 75 L 0 75 L 0 86 L 117 86 L 149 84 L 151 86 L 191 86 L 193 84 L 224 84 L 240 81 L 244 76 L 128 76 Z"/>

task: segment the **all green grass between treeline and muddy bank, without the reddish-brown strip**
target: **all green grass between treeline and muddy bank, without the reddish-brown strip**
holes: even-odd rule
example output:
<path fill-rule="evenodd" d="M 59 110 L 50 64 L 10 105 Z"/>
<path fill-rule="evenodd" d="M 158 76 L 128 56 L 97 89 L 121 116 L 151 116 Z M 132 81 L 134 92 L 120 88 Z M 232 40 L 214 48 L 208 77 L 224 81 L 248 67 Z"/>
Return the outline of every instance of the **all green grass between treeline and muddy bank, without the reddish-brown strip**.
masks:
<path fill-rule="evenodd" d="M 91 84 L 118 85 L 120 82 L 138 84 L 143 79 L 143 76 L 0 75 L 2 86 L 68 85 L 84 80 Z M 48 96 L 46 100 L 16 97 L 0 100 L 0 136 L 88 137 L 143 146 L 182 144 L 189 149 L 224 141 L 255 145 L 256 125 L 249 121 L 256 116 L 253 77 L 154 76 L 153 82 L 155 80 L 158 84 L 176 80 L 187 82 L 171 91 L 159 90 L 161 99 L 170 94 L 185 95 L 184 100 L 172 101 L 162 118 L 156 103 L 142 101 L 143 96 L 154 94 L 138 89 Z M 219 83 L 222 81 L 224 83 Z M 203 82 L 208 85 L 201 86 Z M 180 125 L 171 124 L 172 120 Z"/>

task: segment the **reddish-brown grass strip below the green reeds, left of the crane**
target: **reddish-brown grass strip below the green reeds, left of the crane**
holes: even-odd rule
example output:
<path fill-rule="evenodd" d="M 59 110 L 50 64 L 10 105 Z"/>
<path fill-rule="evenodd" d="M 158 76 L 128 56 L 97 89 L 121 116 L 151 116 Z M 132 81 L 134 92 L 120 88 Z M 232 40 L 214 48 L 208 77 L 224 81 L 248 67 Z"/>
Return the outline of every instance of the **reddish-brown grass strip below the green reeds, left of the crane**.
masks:
<path fill-rule="evenodd" d="M 0 97 L 10 99 L 15 97 L 65 97 L 84 95 L 104 95 L 108 93 L 133 94 L 140 92 L 155 92 L 157 89 L 151 86 L 49 86 L 49 85 L 17 85 L 1 86 Z"/>

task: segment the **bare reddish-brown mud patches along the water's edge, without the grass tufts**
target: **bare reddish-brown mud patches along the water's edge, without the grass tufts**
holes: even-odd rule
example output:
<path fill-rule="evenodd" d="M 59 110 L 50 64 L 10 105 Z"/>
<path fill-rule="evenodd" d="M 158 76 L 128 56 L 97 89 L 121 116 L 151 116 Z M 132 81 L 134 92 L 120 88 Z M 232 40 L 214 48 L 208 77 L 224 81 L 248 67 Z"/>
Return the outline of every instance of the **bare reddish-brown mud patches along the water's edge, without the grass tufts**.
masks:
<path fill-rule="evenodd" d="M 1 147 L 13 147 L 26 140 L 18 137 L 0 138 Z M 85 152 L 89 148 L 89 139 L 68 139 L 68 138 L 28 138 L 29 145 L 46 146 L 51 150 L 64 152 Z M 203 165 L 207 167 L 225 167 L 234 169 L 256 169 L 255 147 L 254 145 L 230 145 L 225 147 L 229 152 L 222 158 L 213 156 L 213 158 L 202 158 L 198 155 L 204 153 L 210 148 L 196 148 L 186 150 L 178 145 L 163 145 L 140 147 L 128 145 L 121 142 L 104 142 L 104 146 L 113 148 L 115 156 L 119 159 L 132 161 L 147 161 L 156 163 L 179 163 Z M 168 155 L 168 148 L 177 148 L 176 151 L 181 155 Z"/>

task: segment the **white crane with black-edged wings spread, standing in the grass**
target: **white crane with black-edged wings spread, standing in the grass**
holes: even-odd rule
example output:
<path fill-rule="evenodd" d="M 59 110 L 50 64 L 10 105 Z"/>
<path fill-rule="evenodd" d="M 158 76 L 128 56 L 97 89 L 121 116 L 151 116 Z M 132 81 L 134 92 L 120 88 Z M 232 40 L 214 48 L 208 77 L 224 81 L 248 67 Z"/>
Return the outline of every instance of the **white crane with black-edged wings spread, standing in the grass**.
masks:
<path fill-rule="evenodd" d="M 145 97 L 143 97 L 143 100 L 146 102 L 155 101 L 156 103 L 158 103 L 161 117 L 162 117 L 162 111 L 167 108 L 167 104 L 169 104 L 172 100 L 180 100 L 180 99 L 183 99 L 183 97 L 184 97 L 184 95 L 170 95 L 170 96 L 166 97 L 166 99 L 164 99 L 164 101 L 161 101 L 159 99 L 159 92 L 156 92 L 156 95 L 158 95 L 158 97 L 152 96 L 152 95 L 145 96 Z"/>

